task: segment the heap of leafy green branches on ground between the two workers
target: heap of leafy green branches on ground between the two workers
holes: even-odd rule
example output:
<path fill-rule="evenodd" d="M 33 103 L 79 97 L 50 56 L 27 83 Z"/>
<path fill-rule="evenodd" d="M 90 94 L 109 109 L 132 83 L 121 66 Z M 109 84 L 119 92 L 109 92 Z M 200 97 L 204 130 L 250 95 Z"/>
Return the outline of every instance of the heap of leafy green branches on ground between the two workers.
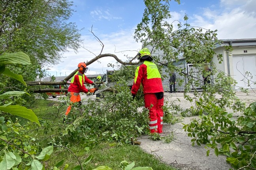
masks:
<path fill-rule="evenodd" d="M 132 100 L 125 85 L 117 85 L 115 92 L 105 93 L 100 102 L 88 100 L 86 105 L 74 108 L 67 120 L 73 123 L 68 124 L 64 136 L 84 139 L 88 146 L 93 146 L 100 140 L 130 143 L 132 137 L 147 132 L 148 111 L 142 98 Z"/>

